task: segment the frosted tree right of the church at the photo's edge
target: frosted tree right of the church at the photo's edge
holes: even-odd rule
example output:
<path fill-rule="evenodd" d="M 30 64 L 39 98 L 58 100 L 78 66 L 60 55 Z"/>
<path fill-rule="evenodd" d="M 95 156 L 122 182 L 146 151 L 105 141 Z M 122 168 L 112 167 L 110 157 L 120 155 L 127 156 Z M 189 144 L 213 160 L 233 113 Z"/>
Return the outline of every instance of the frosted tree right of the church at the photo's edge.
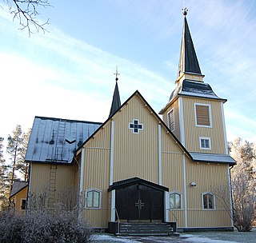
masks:
<path fill-rule="evenodd" d="M 231 170 L 234 227 L 238 231 L 250 231 L 256 219 L 254 145 L 239 137 L 230 143 L 230 155 L 237 161 Z"/>

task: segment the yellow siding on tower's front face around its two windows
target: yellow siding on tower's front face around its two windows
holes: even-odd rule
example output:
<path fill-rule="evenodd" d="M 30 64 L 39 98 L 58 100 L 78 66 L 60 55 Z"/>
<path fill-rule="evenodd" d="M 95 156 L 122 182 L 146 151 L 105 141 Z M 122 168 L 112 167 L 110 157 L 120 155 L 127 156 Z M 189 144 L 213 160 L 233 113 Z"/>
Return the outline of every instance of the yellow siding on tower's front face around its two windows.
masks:
<path fill-rule="evenodd" d="M 211 128 L 196 126 L 194 103 L 210 105 Z M 183 98 L 186 149 L 199 153 L 226 153 L 221 106 L 219 101 Z M 211 149 L 200 149 L 199 137 L 210 137 Z"/>

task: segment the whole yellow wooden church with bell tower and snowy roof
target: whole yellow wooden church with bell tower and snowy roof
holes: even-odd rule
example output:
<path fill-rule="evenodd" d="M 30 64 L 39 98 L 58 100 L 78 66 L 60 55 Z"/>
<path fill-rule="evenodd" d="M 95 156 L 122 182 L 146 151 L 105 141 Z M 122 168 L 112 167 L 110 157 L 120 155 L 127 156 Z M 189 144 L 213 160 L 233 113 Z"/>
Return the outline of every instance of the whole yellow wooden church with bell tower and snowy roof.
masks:
<path fill-rule="evenodd" d="M 121 104 L 118 82 L 104 123 L 34 118 L 28 208 L 43 195 L 49 211 L 78 205 L 78 217 L 94 228 L 233 229 L 226 99 L 203 81 L 186 13 L 176 87 L 162 118 L 138 90 Z"/>

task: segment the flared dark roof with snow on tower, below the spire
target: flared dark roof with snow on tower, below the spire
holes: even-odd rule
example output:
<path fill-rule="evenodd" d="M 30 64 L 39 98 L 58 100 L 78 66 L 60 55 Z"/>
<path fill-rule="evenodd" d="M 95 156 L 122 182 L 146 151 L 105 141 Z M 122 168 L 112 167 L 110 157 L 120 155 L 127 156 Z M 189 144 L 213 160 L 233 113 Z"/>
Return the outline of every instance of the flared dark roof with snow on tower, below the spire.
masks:
<path fill-rule="evenodd" d="M 218 99 L 226 102 L 225 99 L 219 98 L 214 93 L 208 83 L 195 82 L 187 79 L 183 80 L 180 85 L 178 85 L 176 89 L 170 94 L 170 101 L 176 98 L 178 95 Z"/>

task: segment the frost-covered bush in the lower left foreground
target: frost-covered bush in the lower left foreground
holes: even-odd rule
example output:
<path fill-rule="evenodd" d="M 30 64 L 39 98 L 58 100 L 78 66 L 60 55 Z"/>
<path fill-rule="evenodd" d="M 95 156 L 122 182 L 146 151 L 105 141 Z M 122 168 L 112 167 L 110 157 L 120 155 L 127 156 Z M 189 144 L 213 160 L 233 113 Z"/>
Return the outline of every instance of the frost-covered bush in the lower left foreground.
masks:
<path fill-rule="evenodd" d="M 0 242 L 90 242 L 91 232 L 74 211 L 54 216 L 44 211 L 31 211 L 26 216 L 11 212 L 0 214 Z"/>

